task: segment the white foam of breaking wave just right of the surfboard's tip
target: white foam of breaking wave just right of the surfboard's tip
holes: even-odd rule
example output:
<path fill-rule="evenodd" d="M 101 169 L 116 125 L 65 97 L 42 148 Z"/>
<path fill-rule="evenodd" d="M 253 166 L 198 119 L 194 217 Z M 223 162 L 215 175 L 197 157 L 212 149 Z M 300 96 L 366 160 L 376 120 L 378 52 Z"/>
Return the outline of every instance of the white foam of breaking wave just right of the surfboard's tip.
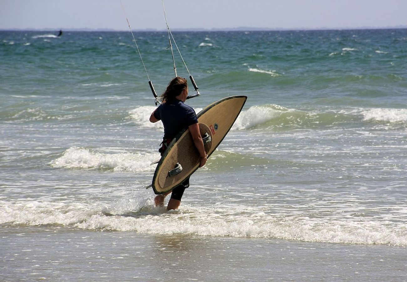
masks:
<path fill-rule="evenodd" d="M 232 126 L 232 130 L 253 128 L 271 119 L 278 118 L 283 112 L 287 111 L 287 108 L 278 105 L 252 106 L 240 113 Z"/>

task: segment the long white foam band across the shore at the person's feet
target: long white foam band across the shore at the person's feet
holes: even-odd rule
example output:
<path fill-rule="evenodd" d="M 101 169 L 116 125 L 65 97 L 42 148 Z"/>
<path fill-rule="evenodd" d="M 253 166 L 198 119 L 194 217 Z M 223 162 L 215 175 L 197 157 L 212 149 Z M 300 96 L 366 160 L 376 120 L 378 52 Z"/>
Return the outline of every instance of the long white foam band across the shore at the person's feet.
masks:
<path fill-rule="evenodd" d="M 141 234 L 183 234 L 236 238 L 279 238 L 305 242 L 407 246 L 404 223 L 388 221 L 293 218 L 266 214 L 252 207 L 183 204 L 166 212 L 154 207 L 145 192 L 112 205 L 58 201 L 0 202 L 0 224 L 66 225 L 88 230 L 133 231 Z M 205 214 L 205 216 L 202 216 Z"/>

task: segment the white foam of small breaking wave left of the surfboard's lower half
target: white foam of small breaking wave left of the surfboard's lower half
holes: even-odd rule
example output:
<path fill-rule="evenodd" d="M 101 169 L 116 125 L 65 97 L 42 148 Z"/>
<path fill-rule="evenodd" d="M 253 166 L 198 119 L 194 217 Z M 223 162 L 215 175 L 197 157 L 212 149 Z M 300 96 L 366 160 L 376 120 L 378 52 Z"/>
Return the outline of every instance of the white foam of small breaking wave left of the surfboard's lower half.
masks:
<path fill-rule="evenodd" d="M 154 170 L 150 163 L 159 159 L 158 153 L 114 153 L 94 152 L 85 148 L 69 148 L 52 162 L 53 167 L 63 168 L 107 168 L 114 171 L 144 172 Z"/>

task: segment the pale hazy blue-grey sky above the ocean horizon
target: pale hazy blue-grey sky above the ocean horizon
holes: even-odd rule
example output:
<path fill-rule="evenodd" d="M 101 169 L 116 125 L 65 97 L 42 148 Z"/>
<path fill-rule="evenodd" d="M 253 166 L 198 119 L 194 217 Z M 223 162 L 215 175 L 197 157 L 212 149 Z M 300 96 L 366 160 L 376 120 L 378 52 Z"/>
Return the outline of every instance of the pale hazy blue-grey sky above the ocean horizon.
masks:
<path fill-rule="evenodd" d="M 161 0 L 122 0 L 131 28 L 165 29 Z M 168 25 L 321 29 L 407 26 L 407 0 L 165 0 Z M 0 29 L 128 30 L 120 0 L 0 0 Z"/>

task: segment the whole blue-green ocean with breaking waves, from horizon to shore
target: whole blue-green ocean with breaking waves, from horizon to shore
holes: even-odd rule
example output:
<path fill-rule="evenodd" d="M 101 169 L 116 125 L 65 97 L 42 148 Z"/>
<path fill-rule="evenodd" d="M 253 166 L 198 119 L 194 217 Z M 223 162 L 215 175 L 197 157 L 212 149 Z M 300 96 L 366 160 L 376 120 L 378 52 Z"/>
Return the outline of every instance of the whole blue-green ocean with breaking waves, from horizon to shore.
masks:
<path fill-rule="evenodd" d="M 248 99 L 169 212 L 167 33 L 149 79 L 130 32 L 56 35 L 0 31 L 1 280 L 407 280 L 407 29 L 173 32 L 186 104 Z"/>

